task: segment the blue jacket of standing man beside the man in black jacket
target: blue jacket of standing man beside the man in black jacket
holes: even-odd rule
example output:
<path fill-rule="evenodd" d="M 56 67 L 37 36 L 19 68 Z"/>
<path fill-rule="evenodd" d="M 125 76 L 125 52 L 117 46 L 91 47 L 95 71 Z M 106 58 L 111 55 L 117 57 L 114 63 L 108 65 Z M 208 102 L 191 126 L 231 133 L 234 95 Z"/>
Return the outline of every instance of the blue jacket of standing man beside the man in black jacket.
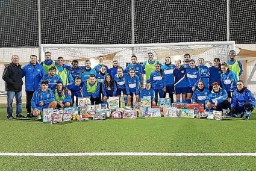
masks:
<path fill-rule="evenodd" d="M 43 75 L 45 75 L 45 69 L 39 63 L 25 65 L 22 68 L 22 77 L 25 76 L 25 90 L 34 92 L 39 89 L 39 82 Z"/>

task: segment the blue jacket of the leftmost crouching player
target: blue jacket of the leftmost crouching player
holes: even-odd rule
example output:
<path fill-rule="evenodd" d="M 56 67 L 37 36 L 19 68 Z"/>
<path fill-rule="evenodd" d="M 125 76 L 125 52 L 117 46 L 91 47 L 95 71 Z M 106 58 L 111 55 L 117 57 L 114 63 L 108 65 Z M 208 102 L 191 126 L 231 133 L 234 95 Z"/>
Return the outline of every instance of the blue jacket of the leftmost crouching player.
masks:
<path fill-rule="evenodd" d="M 55 101 L 54 92 L 51 89 L 47 89 L 46 92 L 43 92 L 41 89 L 36 90 L 31 99 L 31 107 L 42 110 L 42 107 L 50 104 L 52 101 Z M 43 106 L 40 106 L 40 102 L 43 102 Z"/>

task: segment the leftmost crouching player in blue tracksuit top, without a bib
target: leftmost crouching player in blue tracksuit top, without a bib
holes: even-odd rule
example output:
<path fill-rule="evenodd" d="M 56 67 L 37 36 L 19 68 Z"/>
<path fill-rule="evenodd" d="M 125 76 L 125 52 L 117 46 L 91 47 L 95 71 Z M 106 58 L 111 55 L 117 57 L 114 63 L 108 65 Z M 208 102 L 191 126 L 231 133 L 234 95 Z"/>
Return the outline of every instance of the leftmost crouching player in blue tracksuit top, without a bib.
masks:
<path fill-rule="evenodd" d="M 31 100 L 32 114 L 33 116 L 38 116 L 40 119 L 40 114 L 43 108 L 55 108 L 57 102 L 54 98 L 54 92 L 48 89 L 48 81 L 41 82 L 41 89 L 36 90 Z"/>

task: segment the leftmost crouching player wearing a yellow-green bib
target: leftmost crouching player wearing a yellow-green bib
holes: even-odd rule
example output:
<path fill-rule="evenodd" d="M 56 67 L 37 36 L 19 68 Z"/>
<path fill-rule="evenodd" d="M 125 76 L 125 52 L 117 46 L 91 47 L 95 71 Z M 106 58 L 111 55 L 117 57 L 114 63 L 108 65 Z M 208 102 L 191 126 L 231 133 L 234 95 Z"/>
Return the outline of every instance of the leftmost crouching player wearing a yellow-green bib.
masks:
<path fill-rule="evenodd" d="M 63 87 L 61 81 L 57 82 L 57 89 L 55 89 L 55 101 L 57 101 L 56 108 L 70 107 L 71 97 Z"/>

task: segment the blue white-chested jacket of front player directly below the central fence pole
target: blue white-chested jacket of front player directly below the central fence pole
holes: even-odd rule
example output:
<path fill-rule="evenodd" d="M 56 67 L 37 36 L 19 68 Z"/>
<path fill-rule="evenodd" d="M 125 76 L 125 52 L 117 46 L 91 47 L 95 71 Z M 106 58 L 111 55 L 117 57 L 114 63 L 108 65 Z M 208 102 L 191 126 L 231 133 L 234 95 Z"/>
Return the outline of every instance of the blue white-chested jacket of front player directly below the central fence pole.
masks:
<path fill-rule="evenodd" d="M 131 95 L 133 93 L 136 93 L 136 95 L 139 95 L 140 93 L 139 76 L 135 75 L 133 78 L 131 78 L 130 75 L 127 75 L 125 79 L 125 89 L 126 89 L 127 95 Z"/>

